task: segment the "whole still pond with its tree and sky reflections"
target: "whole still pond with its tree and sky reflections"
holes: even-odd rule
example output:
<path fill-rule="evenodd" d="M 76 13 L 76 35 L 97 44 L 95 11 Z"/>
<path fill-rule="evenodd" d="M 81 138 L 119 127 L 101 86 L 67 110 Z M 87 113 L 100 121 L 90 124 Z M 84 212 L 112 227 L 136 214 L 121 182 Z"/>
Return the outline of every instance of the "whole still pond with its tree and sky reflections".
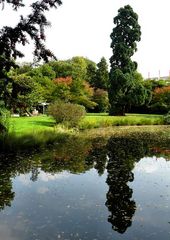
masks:
<path fill-rule="evenodd" d="M 0 240 L 168 240 L 169 160 L 119 137 L 2 158 Z"/>

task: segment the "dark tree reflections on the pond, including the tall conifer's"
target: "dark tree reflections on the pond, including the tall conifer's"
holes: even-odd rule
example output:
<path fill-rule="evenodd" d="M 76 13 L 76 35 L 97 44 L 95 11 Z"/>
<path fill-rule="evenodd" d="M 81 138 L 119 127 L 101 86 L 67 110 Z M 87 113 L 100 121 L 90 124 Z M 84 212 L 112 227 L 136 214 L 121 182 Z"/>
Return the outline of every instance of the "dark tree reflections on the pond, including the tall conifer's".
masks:
<path fill-rule="evenodd" d="M 133 181 L 131 170 L 134 160 L 139 159 L 139 155 L 143 156 L 144 149 L 142 144 L 134 147 L 135 144 L 136 140 L 133 142 L 132 139 L 112 138 L 106 149 L 106 139 L 97 138 L 89 141 L 87 138 L 73 136 L 58 143 L 54 149 L 42 151 L 41 155 L 37 153 L 33 157 L 0 159 L 0 209 L 10 206 L 15 196 L 12 192 L 11 178 L 19 174 L 31 173 L 30 179 L 36 181 L 40 168 L 50 174 L 62 171 L 77 174 L 94 167 L 98 174 L 102 175 L 109 151 L 107 166 L 109 192 L 106 202 L 111 212 L 109 221 L 114 229 L 125 231 L 131 224 L 135 211 L 135 203 L 131 200 L 132 190 L 127 183 Z"/>

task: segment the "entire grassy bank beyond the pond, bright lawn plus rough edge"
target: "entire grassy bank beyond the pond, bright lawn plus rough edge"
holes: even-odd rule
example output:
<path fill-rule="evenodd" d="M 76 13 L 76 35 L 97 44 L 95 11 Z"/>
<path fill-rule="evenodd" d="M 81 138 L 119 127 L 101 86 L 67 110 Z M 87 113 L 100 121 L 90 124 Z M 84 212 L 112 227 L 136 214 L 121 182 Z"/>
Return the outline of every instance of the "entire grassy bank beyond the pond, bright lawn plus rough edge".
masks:
<path fill-rule="evenodd" d="M 161 121 L 162 116 L 159 115 L 131 114 L 125 117 L 110 117 L 106 114 L 89 114 L 80 123 L 80 129 L 83 131 L 78 131 L 55 126 L 54 120 L 47 116 L 11 118 L 9 133 L 0 136 L 0 152 L 39 150 L 72 137 L 90 140 L 129 134 L 146 139 L 159 139 L 160 142 L 170 144 L 170 126 L 153 125 L 161 124 Z M 141 126 L 144 123 L 149 124 Z M 126 126 L 120 126 L 121 124 Z M 134 126 L 135 124 L 137 126 Z"/>

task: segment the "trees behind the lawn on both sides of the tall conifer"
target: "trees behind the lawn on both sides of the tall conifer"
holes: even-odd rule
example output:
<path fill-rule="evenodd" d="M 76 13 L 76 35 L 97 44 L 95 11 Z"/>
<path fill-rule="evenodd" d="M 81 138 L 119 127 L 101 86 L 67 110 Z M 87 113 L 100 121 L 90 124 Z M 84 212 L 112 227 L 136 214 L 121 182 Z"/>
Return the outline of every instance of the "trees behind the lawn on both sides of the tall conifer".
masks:
<path fill-rule="evenodd" d="M 88 112 L 109 111 L 109 70 L 104 57 L 97 64 L 85 57 L 39 66 L 27 63 L 11 69 L 8 76 L 8 81 L 0 81 L 0 98 L 11 113 L 22 115 L 34 108 L 41 112 L 42 103 L 56 101 L 83 105 Z M 134 82 L 143 91 L 135 85 L 126 112 L 164 114 L 170 110 L 170 80 L 144 80 L 136 72 Z M 140 96 L 140 101 L 134 101 Z"/>

